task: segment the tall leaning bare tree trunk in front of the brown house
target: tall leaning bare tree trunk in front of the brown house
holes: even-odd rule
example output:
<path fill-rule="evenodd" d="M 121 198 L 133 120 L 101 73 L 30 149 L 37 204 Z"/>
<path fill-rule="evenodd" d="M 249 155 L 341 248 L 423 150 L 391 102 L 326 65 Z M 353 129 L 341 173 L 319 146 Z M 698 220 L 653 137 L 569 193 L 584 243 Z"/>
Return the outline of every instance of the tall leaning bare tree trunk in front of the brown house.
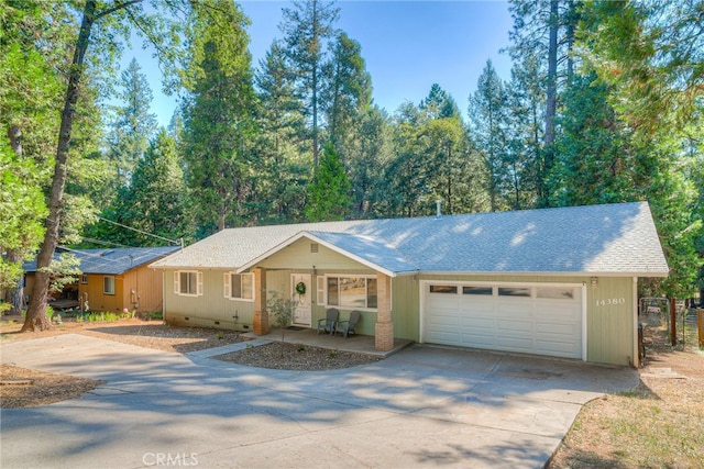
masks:
<path fill-rule="evenodd" d="M 58 228 L 64 203 L 64 189 L 66 187 L 66 170 L 68 150 L 70 146 L 72 131 L 76 103 L 78 102 L 79 85 L 84 74 L 84 57 L 90 41 L 90 30 L 96 21 L 96 1 L 88 0 L 84 8 L 84 18 L 80 32 L 74 51 L 68 85 L 66 87 L 66 100 L 62 112 L 62 122 L 56 148 L 56 164 L 54 166 L 54 179 L 50 196 L 50 215 L 46 219 L 46 234 L 38 256 L 36 257 L 36 275 L 30 305 L 21 332 L 44 331 L 53 327 L 46 317 L 46 297 L 50 288 L 50 273 L 47 268 L 58 245 Z"/>

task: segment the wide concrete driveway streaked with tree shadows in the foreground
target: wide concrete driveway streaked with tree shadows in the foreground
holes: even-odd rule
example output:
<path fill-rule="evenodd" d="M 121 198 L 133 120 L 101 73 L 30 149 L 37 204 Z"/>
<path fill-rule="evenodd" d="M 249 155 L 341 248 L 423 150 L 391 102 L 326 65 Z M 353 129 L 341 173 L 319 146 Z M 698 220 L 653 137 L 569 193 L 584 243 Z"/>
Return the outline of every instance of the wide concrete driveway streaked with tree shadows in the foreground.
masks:
<path fill-rule="evenodd" d="M 429 346 L 324 372 L 74 334 L 1 353 L 107 381 L 81 399 L 3 410 L 3 469 L 540 468 L 585 402 L 638 382 L 632 369 Z"/>

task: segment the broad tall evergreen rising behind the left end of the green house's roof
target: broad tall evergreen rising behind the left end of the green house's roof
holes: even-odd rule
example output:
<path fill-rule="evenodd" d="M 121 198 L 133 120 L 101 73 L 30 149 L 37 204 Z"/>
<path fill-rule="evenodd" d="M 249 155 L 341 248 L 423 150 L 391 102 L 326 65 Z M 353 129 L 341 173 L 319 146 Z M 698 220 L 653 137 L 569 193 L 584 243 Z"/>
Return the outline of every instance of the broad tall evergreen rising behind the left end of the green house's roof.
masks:
<path fill-rule="evenodd" d="M 249 20 L 239 7 L 229 0 L 198 3 L 190 21 L 184 150 L 202 236 L 246 223 L 254 89 L 244 30 Z"/>

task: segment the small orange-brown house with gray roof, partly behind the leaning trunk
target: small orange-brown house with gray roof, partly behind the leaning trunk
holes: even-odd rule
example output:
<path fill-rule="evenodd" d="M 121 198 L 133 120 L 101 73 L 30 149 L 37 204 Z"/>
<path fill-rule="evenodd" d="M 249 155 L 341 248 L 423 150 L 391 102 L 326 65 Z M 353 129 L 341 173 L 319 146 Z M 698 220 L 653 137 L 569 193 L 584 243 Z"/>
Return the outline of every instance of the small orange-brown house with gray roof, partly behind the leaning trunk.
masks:
<path fill-rule="evenodd" d="M 58 249 L 76 256 L 81 275 L 50 300 L 58 310 L 132 312 L 162 311 L 162 275 L 147 266 L 180 249 L 168 247 L 127 247 L 109 249 Z M 24 264 L 25 295 L 32 294 L 36 260 Z"/>

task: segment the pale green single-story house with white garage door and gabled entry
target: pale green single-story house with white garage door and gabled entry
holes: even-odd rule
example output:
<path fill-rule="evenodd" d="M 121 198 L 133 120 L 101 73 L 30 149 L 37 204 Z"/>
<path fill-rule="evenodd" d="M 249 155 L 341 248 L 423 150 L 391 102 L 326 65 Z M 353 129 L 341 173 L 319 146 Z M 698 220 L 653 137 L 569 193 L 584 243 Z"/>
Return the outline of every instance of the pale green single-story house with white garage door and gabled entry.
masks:
<path fill-rule="evenodd" d="M 268 332 L 361 311 L 394 338 L 638 365 L 639 277 L 667 277 L 647 202 L 223 230 L 151 265 L 173 324 Z"/>

